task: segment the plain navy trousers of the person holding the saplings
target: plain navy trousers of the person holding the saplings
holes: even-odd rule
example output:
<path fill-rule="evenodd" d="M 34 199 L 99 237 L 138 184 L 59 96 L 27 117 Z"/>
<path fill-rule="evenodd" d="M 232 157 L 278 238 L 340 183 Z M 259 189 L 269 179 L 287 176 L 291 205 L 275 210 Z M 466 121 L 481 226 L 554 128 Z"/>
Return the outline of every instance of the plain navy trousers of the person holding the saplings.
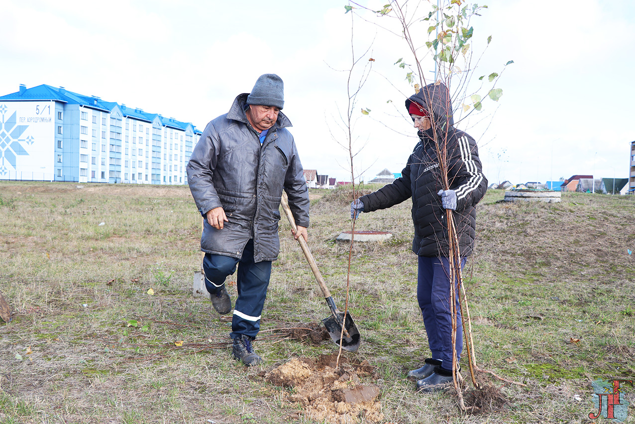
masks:
<path fill-rule="evenodd" d="M 417 300 L 424 318 L 425 332 L 432 359 L 443 360 L 443 366 L 452 364 L 452 320 L 450 316 L 450 264 L 447 257 L 419 256 L 417 273 Z M 465 258 L 461 259 L 461 269 Z M 458 288 L 458 287 L 457 287 Z M 458 307 L 457 291 L 457 360 L 463 350 L 463 326 Z"/>

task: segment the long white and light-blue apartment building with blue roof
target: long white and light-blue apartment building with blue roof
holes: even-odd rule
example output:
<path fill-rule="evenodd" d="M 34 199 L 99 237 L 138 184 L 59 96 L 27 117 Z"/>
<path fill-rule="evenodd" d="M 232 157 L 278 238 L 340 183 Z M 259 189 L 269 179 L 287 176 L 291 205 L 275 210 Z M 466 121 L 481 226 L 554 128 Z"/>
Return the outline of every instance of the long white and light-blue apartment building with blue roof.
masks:
<path fill-rule="evenodd" d="M 39 85 L 0 97 L 0 180 L 187 184 L 189 122 Z"/>

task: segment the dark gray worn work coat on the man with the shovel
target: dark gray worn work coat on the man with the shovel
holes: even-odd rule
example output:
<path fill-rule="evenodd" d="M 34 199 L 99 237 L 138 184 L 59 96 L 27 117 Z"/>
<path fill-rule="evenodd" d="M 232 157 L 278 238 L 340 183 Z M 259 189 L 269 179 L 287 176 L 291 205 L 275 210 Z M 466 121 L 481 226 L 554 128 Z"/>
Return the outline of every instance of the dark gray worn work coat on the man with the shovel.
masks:
<path fill-rule="evenodd" d="M 280 250 L 279 206 L 283 189 L 298 225 L 309 226 L 309 193 L 298 151 L 282 112 L 265 141 L 244 113 L 247 93 L 229 113 L 208 123 L 187 163 L 187 181 L 201 215 L 222 207 L 229 222 L 215 229 L 204 219 L 201 250 L 241 257 L 253 238 L 255 262 L 274 261 Z"/>

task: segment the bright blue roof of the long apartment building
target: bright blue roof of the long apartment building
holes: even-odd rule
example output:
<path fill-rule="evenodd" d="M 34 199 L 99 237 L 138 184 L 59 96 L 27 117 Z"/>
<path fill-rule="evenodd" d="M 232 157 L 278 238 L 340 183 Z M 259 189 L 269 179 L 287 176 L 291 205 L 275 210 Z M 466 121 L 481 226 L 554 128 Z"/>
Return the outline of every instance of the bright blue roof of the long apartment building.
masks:
<path fill-rule="evenodd" d="M 124 105 L 120 105 L 117 102 L 105 102 L 99 97 L 86 96 L 74 92 L 69 92 L 63 87 L 53 87 L 50 85 L 38 85 L 31 88 L 20 86 L 20 90 L 0 97 L 0 101 L 34 101 L 34 100 L 54 100 L 56 102 L 62 102 L 66 104 L 79 104 L 84 107 L 90 107 L 91 109 L 97 109 L 100 111 L 110 112 L 116 106 L 119 106 L 121 113 L 124 116 L 133 118 L 135 120 L 152 122 L 154 118 L 159 117 L 159 121 L 164 127 L 171 127 L 177 130 L 185 131 L 189 125 L 192 125 L 192 131 L 195 134 L 202 134 L 201 131 L 194 127 L 194 124 L 189 122 L 177 121 L 174 118 L 164 118 L 157 113 L 147 113 L 142 109 L 131 109 Z"/>

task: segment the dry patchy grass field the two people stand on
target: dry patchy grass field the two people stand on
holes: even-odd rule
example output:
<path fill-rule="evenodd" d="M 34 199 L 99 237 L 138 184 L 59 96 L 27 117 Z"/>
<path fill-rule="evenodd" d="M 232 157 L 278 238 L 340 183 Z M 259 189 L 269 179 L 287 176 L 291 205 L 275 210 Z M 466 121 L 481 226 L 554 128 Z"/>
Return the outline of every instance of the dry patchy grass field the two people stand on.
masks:
<path fill-rule="evenodd" d="M 380 389 L 382 418 L 340 422 L 589 423 L 592 381 L 635 380 L 635 196 L 503 196 L 488 191 L 478 207 L 465 285 L 479 366 L 524 386 L 490 378 L 509 404 L 465 414 L 451 393 L 422 395 L 406 380 L 429 351 L 404 202 L 356 224 L 393 234 L 352 248 L 362 341 L 344 355 L 368 364 L 359 378 Z M 311 198 L 309 247 L 343 308 L 349 245 L 335 237 L 350 229 L 349 193 Z M 4 181 L 0 217 L 0 291 L 13 311 L 0 321 L 0 423 L 331 423 L 290 400 L 298 388 L 265 378 L 337 352 L 282 330 L 329 312 L 287 222 L 255 343 L 265 362 L 248 369 L 231 359 L 231 316 L 192 296 L 201 217 L 187 187 Z M 635 388 L 622 399 L 635 422 Z"/>

